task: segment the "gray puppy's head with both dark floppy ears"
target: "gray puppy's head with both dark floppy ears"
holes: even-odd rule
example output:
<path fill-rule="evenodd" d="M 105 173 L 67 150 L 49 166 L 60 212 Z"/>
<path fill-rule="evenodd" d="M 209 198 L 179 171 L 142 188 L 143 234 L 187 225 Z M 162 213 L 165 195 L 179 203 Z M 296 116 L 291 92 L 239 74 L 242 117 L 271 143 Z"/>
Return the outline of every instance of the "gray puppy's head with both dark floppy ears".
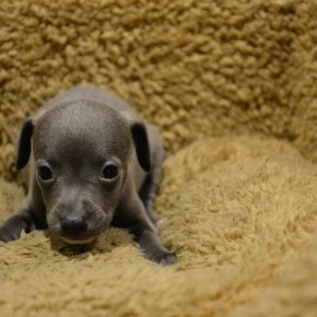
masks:
<path fill-rule="evenodd" d="M 16 167 L 33 152 L 48 228 L 69 243 L 87 243 L 113 220 L 132 151 L 149 172 L 142 122 L 94 102 L 68 102 L 24 124 Z"/>

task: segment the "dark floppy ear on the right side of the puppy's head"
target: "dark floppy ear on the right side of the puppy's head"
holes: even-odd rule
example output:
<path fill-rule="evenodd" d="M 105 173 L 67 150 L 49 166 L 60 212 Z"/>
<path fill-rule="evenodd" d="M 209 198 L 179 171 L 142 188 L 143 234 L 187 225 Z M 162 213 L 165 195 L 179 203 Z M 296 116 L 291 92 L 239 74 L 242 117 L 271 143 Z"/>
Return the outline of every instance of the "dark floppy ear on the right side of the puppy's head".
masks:
<path fill-rule="evenodd" d="M 140 166 L 145 172 L 151 172 L 151 154 L 146 128 L 142 122 L 132 124 L 131 134 L 134 142 Z"/>

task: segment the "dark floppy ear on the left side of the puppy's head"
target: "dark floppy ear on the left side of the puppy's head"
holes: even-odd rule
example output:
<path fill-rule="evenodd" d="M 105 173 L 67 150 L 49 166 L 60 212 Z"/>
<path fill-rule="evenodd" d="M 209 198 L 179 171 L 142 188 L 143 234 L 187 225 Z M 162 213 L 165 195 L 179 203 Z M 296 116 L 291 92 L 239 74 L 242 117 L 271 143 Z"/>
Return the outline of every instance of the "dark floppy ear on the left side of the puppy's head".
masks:
<path fill-rule="evenodd" d="M 23 124 L 17 144 L 16 169 L 23 168 L 28 162 L 31 155 L 31 139 L 33 130 L 34 124 L 32 119 L 28 119 Z"/>

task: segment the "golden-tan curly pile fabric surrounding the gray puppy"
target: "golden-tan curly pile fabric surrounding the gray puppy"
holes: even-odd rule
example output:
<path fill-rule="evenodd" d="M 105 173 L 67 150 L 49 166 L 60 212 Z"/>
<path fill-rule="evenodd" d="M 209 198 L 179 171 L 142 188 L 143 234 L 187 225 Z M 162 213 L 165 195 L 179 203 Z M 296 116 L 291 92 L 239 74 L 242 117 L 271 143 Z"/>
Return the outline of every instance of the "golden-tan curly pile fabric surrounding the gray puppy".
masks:
<path fill-rule="evenodd" d="M 316 316 L 317 4 L 24 0 L 0 5 L 0 221 L 23 204 L 23 120 L 77 84 L 118 94 L 172 155 L 156 212 L 178 263 L 111 228 L 0 243 L 0 315 Z"/>

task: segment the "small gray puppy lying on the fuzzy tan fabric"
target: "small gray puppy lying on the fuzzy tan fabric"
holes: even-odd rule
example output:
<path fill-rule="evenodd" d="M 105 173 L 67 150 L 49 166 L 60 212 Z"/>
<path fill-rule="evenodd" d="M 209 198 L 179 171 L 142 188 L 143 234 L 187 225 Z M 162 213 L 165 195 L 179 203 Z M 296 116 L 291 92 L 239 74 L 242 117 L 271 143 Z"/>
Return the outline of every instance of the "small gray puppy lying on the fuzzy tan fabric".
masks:
<path fill-rule="evenodd" d="M 162 160 L 157 129 L 127 103 L 93 87 L 72 89 L 24 122 L 16 167 L 28 195 L 0 227 L 0 240 L 48 227 L 70 244 L 87 244 L 114 225 L 128 228 L 149 259 L 173 265 L 153 212 Z"/>

